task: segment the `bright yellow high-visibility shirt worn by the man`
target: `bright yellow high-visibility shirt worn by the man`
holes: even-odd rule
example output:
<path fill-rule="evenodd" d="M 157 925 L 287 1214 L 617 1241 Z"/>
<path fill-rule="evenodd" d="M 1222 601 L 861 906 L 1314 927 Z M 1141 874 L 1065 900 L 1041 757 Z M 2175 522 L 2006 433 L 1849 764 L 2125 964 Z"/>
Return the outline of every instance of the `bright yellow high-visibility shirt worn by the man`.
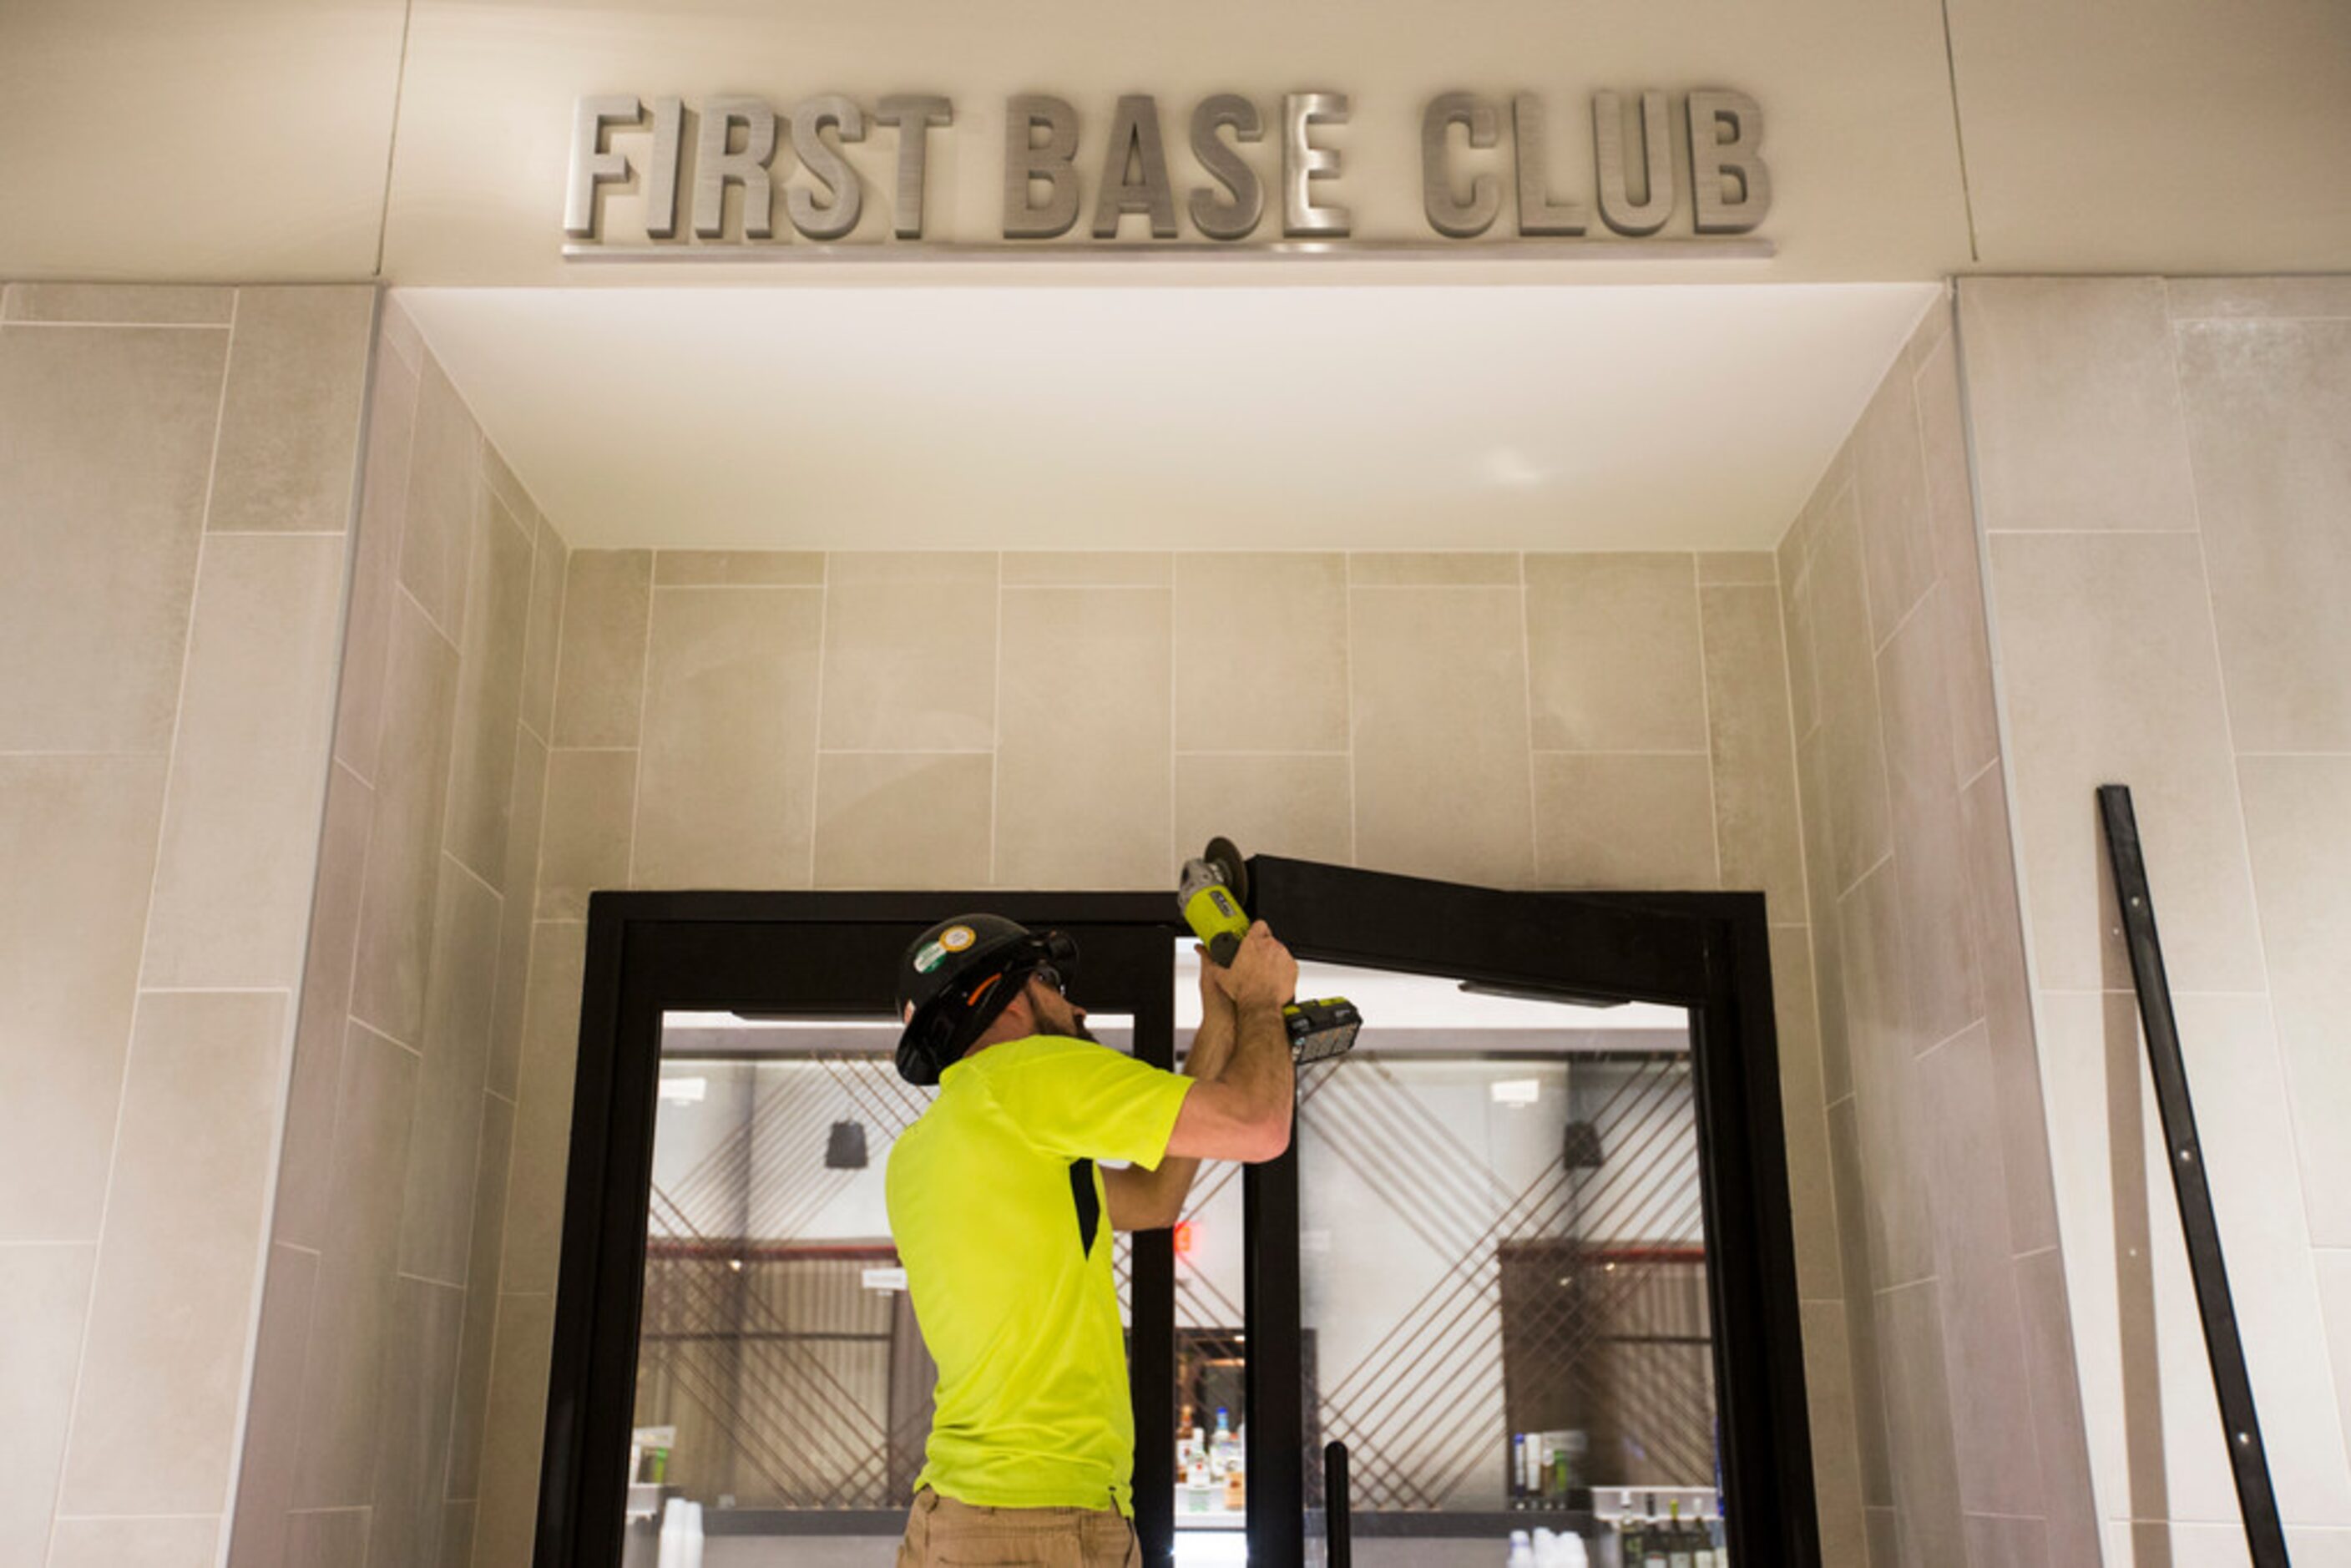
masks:
<path fill-rule="evenodd" d="M 978 1507 L 1133 1514 L 1110 1204 L 1100 1168 L 1079 1161 L 1157 1168 L 1190 1088 L 1110 1046 L 1032 1034 L 947 1067 L 898 1135 L 889 1225 L 938 1361 L 917 1486 Z"/>

